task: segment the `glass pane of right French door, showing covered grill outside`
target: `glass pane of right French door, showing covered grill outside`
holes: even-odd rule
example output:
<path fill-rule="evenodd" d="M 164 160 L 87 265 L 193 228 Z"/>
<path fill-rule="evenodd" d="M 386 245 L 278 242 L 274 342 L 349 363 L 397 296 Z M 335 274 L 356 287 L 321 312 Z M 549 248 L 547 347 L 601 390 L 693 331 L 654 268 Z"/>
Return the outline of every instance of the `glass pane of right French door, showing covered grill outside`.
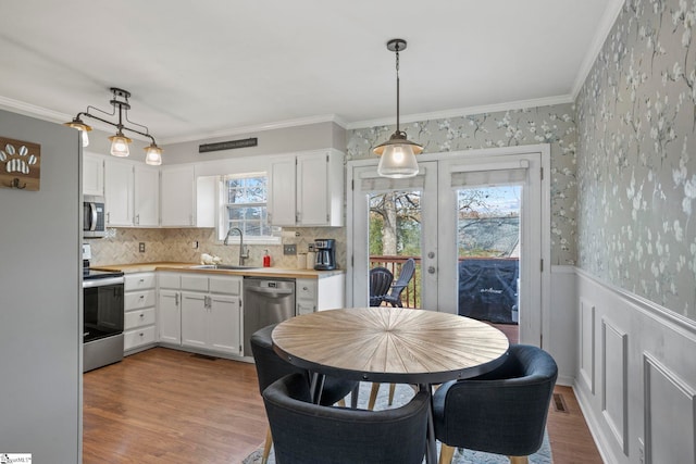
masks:
<path fill-rule="evenodd" d="M 522 186 L 457 190 L 459 314 L 518 324 Z"/>

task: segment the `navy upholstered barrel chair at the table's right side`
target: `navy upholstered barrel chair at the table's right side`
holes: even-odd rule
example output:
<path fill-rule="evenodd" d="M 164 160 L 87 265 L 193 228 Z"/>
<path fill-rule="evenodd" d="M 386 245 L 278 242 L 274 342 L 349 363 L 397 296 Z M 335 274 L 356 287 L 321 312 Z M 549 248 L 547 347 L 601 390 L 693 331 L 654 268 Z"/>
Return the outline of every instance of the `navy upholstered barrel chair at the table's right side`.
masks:
<path fill-rule="evenodd" d="M 527 463 L 542 447 L 558 367 L 546 351 L 512 344 L 498 368 L 478 377 L 443 384 L 433 396 L 439 464 L 455 448 L 507 455 Z"/>

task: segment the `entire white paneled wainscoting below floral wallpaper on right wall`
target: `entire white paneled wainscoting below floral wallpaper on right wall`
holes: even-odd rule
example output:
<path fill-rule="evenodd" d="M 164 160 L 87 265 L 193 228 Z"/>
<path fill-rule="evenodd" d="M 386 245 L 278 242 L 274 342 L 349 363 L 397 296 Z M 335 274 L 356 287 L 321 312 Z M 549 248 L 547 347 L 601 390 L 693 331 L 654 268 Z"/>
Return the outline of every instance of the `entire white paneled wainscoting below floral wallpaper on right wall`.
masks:
<path fill-rule="evenodd" d="M 575 393 L 607 463 L 696 462 L 696 323 L 577 269 Z"/>

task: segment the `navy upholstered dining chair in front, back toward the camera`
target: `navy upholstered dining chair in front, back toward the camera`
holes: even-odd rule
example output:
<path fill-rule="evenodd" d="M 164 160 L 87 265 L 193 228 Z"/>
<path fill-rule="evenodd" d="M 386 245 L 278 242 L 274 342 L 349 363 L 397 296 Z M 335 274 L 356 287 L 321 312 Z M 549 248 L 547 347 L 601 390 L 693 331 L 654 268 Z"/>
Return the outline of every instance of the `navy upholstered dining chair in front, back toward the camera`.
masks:
<path fill-rule="evenodd" d="M 263 391 L 278 464 L 421 464 L 427 392 L 403 406 L 366 411 L 312 404 L 303 377 L 293 374 Z"/>

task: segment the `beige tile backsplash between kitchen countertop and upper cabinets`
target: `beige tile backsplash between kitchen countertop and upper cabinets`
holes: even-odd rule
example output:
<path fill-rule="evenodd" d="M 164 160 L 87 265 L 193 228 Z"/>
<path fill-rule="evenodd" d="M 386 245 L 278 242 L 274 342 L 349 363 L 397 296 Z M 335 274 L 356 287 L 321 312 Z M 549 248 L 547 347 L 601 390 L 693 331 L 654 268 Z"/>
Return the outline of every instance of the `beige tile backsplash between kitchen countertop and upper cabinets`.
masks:
<path fill-rule="evenodd" d="M 284 255 L 283 244 L 296 244 L 298 253 L 306 253 L 318 238 L 336 240 L 336 262 L 346 268 L 346 229 L 343 227 L 285 227 L 282 244 L 247 244 L 250 259 L 245 264 L 262 265 L 265 250 L 274 267 L 296 268 L 297 256 Z M 289 233 L 289 234 L 288 234 Z M 198 249 L 192 248 L 198 242 Z M 110 228 L 107 237 L 89 239 L 91 265 L 129 264 L 156 261 L 200 262 L 201 253 L 220 256 L 223 263 L 237 264 L 239 246 L 224 246 L 213 228 Z M 145 243 L 145 252 L 139 251 Z"/>

